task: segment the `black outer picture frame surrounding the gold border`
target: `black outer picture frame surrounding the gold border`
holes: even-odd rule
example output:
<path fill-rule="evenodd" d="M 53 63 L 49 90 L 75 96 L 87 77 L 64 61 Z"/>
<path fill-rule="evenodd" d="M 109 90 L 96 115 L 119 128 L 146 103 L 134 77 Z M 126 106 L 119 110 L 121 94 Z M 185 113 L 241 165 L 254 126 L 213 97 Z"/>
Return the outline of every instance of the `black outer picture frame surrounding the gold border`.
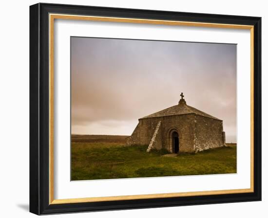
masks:
<path fill-rule="evenodd" d="M 254 192 L 138 200 L 49 202 L 49 14 L 254 26 Z M 261 18 L 38 3 L 30 6 L 30 212 L 37 215 L 261 200 Z"/>

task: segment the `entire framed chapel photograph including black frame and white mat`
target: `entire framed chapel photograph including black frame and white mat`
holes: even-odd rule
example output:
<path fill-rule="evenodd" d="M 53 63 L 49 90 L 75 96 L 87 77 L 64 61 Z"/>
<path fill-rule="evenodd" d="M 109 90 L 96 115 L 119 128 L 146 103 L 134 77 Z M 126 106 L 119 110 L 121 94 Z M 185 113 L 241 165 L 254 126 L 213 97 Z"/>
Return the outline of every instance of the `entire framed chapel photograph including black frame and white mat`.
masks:
<path fill-rule="evenodd" d="M 261 18 L 30 6 L 30 212 L 261 200 Z"/>

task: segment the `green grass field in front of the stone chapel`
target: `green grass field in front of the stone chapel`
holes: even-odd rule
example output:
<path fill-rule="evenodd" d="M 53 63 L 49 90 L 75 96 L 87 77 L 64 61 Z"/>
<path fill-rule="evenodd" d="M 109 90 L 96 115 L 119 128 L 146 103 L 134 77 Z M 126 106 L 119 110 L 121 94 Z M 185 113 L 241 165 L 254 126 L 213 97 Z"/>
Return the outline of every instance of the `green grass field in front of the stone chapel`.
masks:
<path fill-rule="evenodd" d="M 236 146 L 165 157 L 123 143 L 72 143 L 72 180 L 236 173 Z"/>

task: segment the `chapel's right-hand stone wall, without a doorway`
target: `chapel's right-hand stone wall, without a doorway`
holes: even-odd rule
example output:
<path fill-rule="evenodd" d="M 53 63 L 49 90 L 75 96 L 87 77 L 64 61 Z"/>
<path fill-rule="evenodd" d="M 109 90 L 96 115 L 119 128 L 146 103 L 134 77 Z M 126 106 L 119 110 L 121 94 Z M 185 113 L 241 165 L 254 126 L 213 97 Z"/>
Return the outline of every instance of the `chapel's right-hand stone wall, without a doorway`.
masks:
<path fill-rule="evenodd" d="M 195 152 L 225 145 L 225 132 L 221 120 L 195 115 L 194 123 Z"/>

